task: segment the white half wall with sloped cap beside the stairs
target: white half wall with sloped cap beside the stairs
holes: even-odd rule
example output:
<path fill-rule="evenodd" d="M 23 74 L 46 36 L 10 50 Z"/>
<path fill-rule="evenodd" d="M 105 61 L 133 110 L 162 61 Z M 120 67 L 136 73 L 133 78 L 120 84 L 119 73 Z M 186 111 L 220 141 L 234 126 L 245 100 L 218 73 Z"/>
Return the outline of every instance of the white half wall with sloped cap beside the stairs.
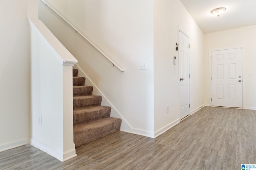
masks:
<path fill-rule="evenodd" d="M 29 23 L 31 145 L 65 161 L 76 156 L 72 66 L 77 60 L 42 21 L 29 19 Z"/>

